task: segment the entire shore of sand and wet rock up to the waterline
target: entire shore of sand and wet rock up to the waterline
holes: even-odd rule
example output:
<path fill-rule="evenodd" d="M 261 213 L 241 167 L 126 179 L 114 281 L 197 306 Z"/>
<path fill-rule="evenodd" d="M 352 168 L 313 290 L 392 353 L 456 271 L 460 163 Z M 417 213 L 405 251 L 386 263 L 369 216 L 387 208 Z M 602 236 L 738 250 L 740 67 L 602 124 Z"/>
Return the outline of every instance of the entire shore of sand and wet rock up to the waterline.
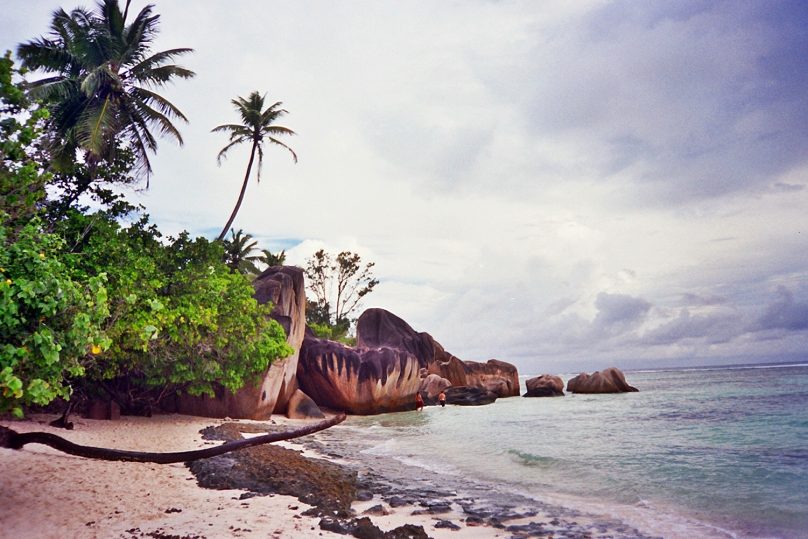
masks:
<path fill-rule="evenodd" d="M 0 424 L 18 432 L 52 432 L 84 445 L 163 452 L 220 443 L 204 436 L 203 430 L 229 428 L 249 437 L 258 431 L 288 430 L 307 423 L 275 416 L 253 421 L 165 414 L 123 416 L 117 421 L 75 417 L 75 430 L 66 431 L 48 425 L 55 417 L 32 414 L 24 421 L 0 420 Z M 435 539 L 536 534 L 650 537 L 613 515 L 530 498 L 498 501 L 496 492 L 476 484 L 473 478 L 444 483 L 446 478 L 427 478 L 417 470 L 403 476 L 389 474 L 389 467 L 379 466 L 382 457 L 356 455 L 353 428 L 334 430 L 339 428 L 268 444 L 273 448 L 258 461 L 259 466 L 285 466 L 281 471 L 293 477 L 300 470 L 294 461 L 301 457 L 351 470 L 357 477 L 356 499 L 347 509 L 328 508 L 333 511 L 324 510 L 313 496 L 313 488 L 288 495 L 279 492 L 277 482 L 264 485 L 260 480 L 257 488 L 255 482 L 223 488 L 232 476 L 239 475 L 234 464 L 239 459 L 233 454 L 205 459 L 206 473 L 225 480 L 205 488 L 203 475 L 184 463 L 91 460 L 40 444 L 21 450 L 0 449 L 4 468 L 0 474 L 0 537 L 346 537 L 351 523 L 363 517 L 383 532 L 420 526 Z M 291 454 L 284 456 L 283 451 Z M 321 519 L 329 520 L 324 528 Z"/>

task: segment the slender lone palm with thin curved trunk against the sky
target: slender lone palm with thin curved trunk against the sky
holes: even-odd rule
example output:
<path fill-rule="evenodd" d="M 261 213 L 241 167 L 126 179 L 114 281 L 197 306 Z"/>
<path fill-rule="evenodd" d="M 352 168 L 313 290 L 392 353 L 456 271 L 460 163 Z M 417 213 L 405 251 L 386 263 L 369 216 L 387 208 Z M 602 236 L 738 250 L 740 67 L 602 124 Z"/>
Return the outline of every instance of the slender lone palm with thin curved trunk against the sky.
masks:
<path fill-rule="evenodd" d="M 297 154 L 295 154 L 294 150 L 275 138 L 277 135 L 295 134 L 295 132 L 288 127 L 274 125 L 275 120 L 288 112 L 285 109 L 280 108 L 282 105 L 280 101 L 264 109 L 264 96 L 258 92 L 253 92 L 249 95 L 249 97 L 247 97 L 247 99 L 237 97 L 236 99 L 232 100 L 232 103 L 241 115 L 241 120 L 243 123 L 224 124 L 213 128 L 213 132 L 224 131 L 230 133 L 230 142 L 227 144 L 227 146 L 221 149 L 219 155 L 216 157 L 216 162 L 221 164 L 222 159 L 225 158 L 230 148 L 236 146 L 237 144 L 241 144 L 242 142 L 251 142 L 252 149 L 250 150 L 250 160 L 247 162 L 247 172 L 244 174 L 244 182 L 241 185 L 241 192 L 238 195 L 236 207 L 233 208 L 233 213 L 230 214 L 230 218 L 224 225 L 221 234 L 219 234 L 219 240 L 223 239 L 225 234 L 227 234 L 227 230 L 230 228 L 230 225 L 233 224 L 233 220 L 236 218 L 239 208 L 241 208 L 241 202 L 244 200 L 244 193 L 247 190 L 247 182 L 250 179 L 250 172 L 252 171 L 252 165 L 255 161 L 256 153 L 258 154 L 257 180 L 259 182 L 261 181 L 261 166 L 264 163 L 265 141 L 268 140 L 273 144 L 283 146 L 289 150 L 292 153 L 292 158 L 295 160 L 295 163 L 297 163 Z"/>

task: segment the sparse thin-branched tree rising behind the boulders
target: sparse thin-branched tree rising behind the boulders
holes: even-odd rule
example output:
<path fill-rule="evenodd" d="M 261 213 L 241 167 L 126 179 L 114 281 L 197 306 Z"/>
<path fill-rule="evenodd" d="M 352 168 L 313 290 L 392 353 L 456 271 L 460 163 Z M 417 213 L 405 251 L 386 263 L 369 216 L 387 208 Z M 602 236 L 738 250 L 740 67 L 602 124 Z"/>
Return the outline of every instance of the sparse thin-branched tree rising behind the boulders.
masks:
<path fill-rule="evenodd" d="M 330 325 L 336 333 L 347 333 L 353 323 L 350 315 L 363 297 L 379 284 L 373 276 L 373 262 L 362 265 L 362 258 L 350 251 L 336 256 L 320 249 L 306 260 L 308 287 L 314 300 L 307 302 L 310 323 Z"/>

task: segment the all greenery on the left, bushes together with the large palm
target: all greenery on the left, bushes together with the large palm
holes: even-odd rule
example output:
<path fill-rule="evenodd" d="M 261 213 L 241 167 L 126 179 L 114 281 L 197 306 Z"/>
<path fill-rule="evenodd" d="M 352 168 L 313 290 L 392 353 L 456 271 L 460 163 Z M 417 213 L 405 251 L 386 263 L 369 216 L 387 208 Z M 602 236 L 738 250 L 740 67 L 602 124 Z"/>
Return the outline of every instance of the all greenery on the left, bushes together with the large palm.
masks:
<path fill-rule="evenodd" d="M 110 189 L 148 176 L 152 130 L 181 141 L 184 116 L 152 89 L 192 75 L 168 63 L 190 49 L 149 53 L 151 7 L 127 12 L 55 12 L 18 51 L 45 79 L 0 59 L 0 413 L 82 395 L 148 412 L 291 353 L 223 242 L 163 236 Z"/>

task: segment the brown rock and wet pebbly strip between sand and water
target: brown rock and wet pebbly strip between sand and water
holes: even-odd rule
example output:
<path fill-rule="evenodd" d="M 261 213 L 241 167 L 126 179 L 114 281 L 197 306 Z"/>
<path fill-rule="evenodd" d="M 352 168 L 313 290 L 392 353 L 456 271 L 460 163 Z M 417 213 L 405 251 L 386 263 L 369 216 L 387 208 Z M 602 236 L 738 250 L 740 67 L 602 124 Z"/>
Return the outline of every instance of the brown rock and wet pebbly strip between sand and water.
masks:
<path fill-rule="evenodd" d="M 207 439 L 232 440 L 240 438 L 242 432 L 267 430 L 282 429 L 233 422 L 202 432 Z M 268 444 L 188 466 L 203 487 L 242 489 L 246 491 L 243 496 L 249 497 L 271 493 L 296 496 L 314 506 L 303 514 L 320 517 L 320 529 L 360 539 L 429 537 L 422 526 L 382 531 L 371 519 L 401 511 L 429 515 L 434 528 L 456 530 L 458 534 L 467 527 L 490 526 L 502 530 L 503 537 L 514 539 L 651 539 L 619 520 L 501 492 L 469 478 L 433 475 L 401 463 L 391 466 L 391 459 L 382 456 L 358 455 L 355 440 L 344 433 L 326 430 L 292 443 L 328 454 L 339 459 L 339 464 L 305 458 L 298 451 Z M 354 500 L 378 503 L 359 516 L 351 509 Z"/>

